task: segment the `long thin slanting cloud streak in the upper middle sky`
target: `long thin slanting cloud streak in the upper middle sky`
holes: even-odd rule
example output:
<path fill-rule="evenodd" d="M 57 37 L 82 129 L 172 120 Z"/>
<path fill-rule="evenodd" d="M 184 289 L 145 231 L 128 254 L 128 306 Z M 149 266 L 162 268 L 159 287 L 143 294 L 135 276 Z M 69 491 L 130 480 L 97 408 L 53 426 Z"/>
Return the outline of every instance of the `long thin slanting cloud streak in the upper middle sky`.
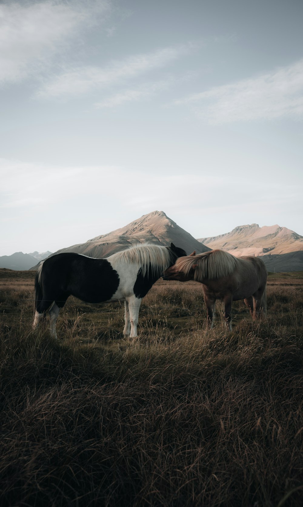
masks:
<path fill-rule="evenodd" d="M 191 50 L 193 44 L 168 47 L 146 54 L 113 60 L 105 67 L 81 66 L 55 76 L 40 90 L 41 96 L 80 95 L 108 87 L 162 68 Z"/>

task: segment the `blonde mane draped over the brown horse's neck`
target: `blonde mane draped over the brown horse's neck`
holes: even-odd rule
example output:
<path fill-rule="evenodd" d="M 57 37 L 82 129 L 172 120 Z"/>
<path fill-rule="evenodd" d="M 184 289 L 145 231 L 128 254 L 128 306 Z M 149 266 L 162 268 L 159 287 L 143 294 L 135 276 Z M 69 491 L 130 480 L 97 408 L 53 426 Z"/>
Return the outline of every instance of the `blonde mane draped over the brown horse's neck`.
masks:
<path fill-rule="evenodd" d="M 215 280 L 230 275 L 236 267 L 237 258 L 224 250 L 211 250 L 196 256 L 182 257 L 177 260 L 179 271 L 187 275 L 197 264 L 194 280 Z"/>

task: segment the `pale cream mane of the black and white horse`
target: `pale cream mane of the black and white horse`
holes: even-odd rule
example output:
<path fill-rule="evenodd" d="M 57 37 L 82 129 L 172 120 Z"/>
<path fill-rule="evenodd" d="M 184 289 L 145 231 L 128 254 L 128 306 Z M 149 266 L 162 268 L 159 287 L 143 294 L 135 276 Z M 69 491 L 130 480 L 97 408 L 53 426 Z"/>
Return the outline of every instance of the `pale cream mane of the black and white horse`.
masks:
<path fill-rule="evenodd" d="M 109 257 L 107 258 L 109 259 Z M 144 276 L 149 269 L 152 269 L 153 274 L 165 271 L 171 264 L 171 255 L 166 246 L 153 245 L 150 243 L 138 243 L 132 245 L 126 250 L 113 253 L 110 260 L 115 262 L 122 262 L 128 264 L 136 264 L 138 269 L 141 268 L 142 275 Z"/>

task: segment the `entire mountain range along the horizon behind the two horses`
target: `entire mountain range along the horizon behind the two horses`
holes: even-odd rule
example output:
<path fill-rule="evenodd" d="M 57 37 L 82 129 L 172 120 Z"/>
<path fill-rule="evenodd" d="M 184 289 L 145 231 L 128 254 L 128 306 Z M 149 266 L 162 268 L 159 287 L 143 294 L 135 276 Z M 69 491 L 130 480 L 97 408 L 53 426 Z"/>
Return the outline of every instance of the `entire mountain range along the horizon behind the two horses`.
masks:
<path fill-rule="evenodd" d="M 187 254 L 202 253 L 214 248 L 229 251 L 235 256 L 261 256 L 269 271 L 303 271 L 303 236 L 286 227 L 257 224 L 238 226 L 219 236 L 195 239 L 179 227 L 164 211 L 152 211 L 130 224 L 85 243 L 61 248 L 55 253 L 76 252 L 89 257 L 104 258 L 128 246 L 143 243 L 170 245 L 183 248 Z M 30 254 L 16 252 L 0 257 L 0 268 L 36 269 L 37 261 L 54 255 L 51 252 Z"/>

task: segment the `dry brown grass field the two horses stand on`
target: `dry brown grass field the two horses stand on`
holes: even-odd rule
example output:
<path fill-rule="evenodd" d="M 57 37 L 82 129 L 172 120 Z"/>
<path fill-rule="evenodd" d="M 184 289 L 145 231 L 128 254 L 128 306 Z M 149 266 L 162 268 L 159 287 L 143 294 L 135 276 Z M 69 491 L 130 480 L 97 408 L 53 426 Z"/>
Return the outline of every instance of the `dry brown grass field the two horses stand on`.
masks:
<path fill-rule="evenodd" d="M 268 317 L 159 280 L 137 340 L 122 304 L 70 298 L 31 331 L 29 271 L 0 270 L 0 505 L 303 504 L 303 273 L 270 273 Z"/>

